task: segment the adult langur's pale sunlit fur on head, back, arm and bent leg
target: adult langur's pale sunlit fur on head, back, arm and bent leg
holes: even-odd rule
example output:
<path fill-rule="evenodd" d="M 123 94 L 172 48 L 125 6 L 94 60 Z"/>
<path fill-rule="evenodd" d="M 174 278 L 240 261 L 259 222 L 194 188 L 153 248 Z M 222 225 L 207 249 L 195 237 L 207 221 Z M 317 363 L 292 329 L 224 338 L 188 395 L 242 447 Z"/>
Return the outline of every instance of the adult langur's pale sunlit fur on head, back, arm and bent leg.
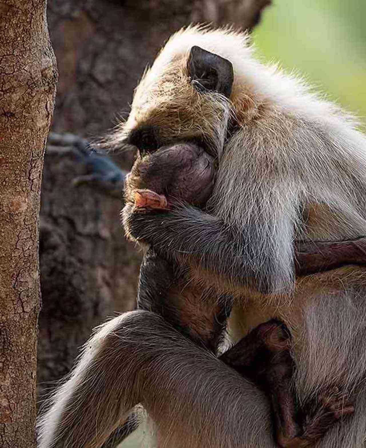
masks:
<path fill-rule="evenodd" d="M 194 45 L 232 62 L 230 100 L 190 83 Z M 300 403 L 329 388 L 355 400 L 353 417 L 317 446 L 364 447 L 365 269 L 293 274 L 295 239 L 366 235 L 366 139 L 357 123 L 302 81 L 258 62 L 245 34 L 190 27 L 145 73 L 129 119 L 110 142 L 123 146 L 145 125 L 159 129 L 162 144 L 200 138 L 220 167 L 212 215 L 181 207 L 157 224 L 144 222 L 146 239 L 194 267 L 203 283 L 219 279 L 218 287 L 242 296 L 232 313 L 233 340 L 274 315 L 284 319 L 296 341 Z M 129 220 L 125 215 L 127 228 Z M 40 423 L 40 448 L 99 447 L 138 401 L 155 422 L 159 447 L 275 446 L 262 394 L 158 317 L 113 319 L 91 345 L 95 353 L 86 349 Z"/>

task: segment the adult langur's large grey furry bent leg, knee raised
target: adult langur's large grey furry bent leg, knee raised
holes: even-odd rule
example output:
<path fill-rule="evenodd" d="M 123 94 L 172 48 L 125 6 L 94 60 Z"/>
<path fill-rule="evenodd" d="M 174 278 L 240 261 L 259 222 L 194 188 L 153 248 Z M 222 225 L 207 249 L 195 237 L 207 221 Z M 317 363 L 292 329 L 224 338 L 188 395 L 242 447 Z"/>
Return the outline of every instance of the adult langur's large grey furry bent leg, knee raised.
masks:
<path fill-rule="evenodd" d="M 156 446 L 274 448 L 263 394 L 164 319 L 122 314 L 85 345 L 39 422 L 39 448 L 99 448 L 141 402 Z"/>

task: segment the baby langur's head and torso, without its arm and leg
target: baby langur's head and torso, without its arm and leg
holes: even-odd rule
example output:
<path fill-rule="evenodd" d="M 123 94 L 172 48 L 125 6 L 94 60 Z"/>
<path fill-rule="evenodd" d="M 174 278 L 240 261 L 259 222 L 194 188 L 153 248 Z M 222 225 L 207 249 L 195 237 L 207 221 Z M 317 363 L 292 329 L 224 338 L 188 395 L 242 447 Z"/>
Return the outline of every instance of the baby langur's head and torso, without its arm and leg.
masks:
<path fill-rule="evenodd" d="M 182 201 L 204 208 L 216 168 L 213 157 L 193 142 L 164 146 L 136 160 L 125 182 L 125 200 L 157 213 Z M 228 296 L 216 293 L 213 306 L 211 294 L 215 293 L 203 291 L 177 263 L 168 263 L 153 248 L 148 250 L 140 273 L 139 307 L 163 315 L 215 353 L 230 301 Z"/>

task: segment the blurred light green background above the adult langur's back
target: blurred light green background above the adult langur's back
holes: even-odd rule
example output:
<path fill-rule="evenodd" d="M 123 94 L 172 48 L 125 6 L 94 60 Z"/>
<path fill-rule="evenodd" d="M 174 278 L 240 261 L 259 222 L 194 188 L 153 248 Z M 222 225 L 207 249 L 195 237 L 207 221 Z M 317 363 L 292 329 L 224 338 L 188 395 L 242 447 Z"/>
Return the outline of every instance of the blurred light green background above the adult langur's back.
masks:
<path fill-rule="evenodd" d="M 366 124 L 366 1 L 273 0 L 257 53 L 301 73 Z"/>

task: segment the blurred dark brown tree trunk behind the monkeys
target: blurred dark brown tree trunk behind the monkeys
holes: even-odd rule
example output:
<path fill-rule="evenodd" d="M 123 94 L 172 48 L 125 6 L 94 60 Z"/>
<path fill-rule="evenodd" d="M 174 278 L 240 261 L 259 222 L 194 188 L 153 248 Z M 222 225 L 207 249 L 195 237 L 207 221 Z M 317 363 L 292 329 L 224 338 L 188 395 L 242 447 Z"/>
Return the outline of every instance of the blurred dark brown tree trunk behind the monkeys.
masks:
<path fill-rule="evenodd" d="M 52 129 L 100 137 L 128 115 L 133 89 L 164 41 L 192 22 L 251 28 L 269 0 L 49 0 L 59 66 Z M 129 169 L 132 153 L 116 155 Z M 140 254 L 125 241 L 118 199 L 71 181 L 71 153 L 47 154 L 42 190 L 39 389 L 65 375 L 92 327 L 131 309 Z"/>

